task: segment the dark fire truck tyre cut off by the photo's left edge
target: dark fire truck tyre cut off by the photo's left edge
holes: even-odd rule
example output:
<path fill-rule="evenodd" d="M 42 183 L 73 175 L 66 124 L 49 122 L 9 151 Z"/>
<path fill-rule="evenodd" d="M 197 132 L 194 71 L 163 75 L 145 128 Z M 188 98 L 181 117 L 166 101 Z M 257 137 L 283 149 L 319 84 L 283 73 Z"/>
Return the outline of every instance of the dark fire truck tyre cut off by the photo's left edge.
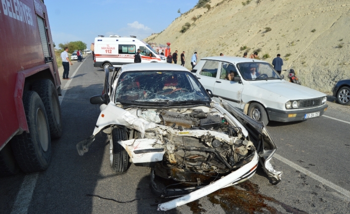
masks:
<path fill-rule="evenodd" d="M 0 151 L 0 176 L 14 175 L 19 171 L 11 146 L 7 143 Z"/>

